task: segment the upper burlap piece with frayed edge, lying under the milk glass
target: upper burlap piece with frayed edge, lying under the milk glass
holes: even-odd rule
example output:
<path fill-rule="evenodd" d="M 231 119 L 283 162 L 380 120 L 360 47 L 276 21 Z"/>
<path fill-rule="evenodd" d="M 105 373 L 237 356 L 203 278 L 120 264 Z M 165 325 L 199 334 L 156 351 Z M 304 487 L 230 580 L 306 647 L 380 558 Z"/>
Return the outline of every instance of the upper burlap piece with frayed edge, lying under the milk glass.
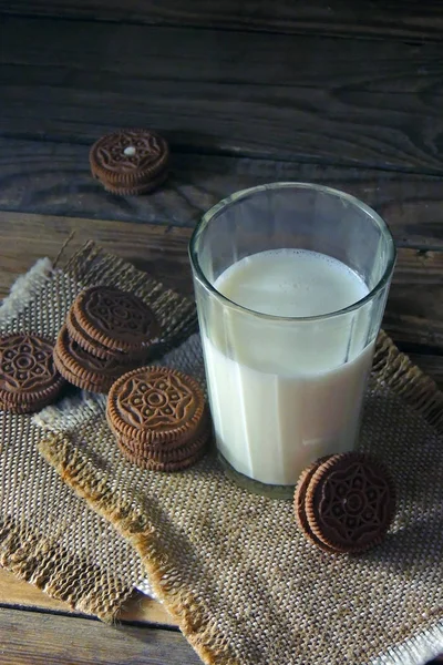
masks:
<path fill-rule="evenodd" d="M 63 301 L 74 275 L 58 274 L 56 286 L 49 278 L 47 308 Z M 102 283 L 114 278 L 100 275 Z M 204 380 L 197 335 L 162 361 Z M 399 508 L 385 541 L 359 556 L 315 549 L 297 530 L 290 501 L 237 488 L 214 453 L 182 473 L 132 467 L 104 411 L 103 397 L 66 396 L 33 418 L 35 443 L 84 505 L 138 553 L 120 571 L 126 587 L 142 562 L 206 663 L 418 665 L 443 651 L 443 396 L 384 335 L 360 447 L 390 466 Z M 25 492 L 24 474 L 22 483 Z M 95 611 L 107 616 L 93 573 L 79 580 L 90 582 Z"/>

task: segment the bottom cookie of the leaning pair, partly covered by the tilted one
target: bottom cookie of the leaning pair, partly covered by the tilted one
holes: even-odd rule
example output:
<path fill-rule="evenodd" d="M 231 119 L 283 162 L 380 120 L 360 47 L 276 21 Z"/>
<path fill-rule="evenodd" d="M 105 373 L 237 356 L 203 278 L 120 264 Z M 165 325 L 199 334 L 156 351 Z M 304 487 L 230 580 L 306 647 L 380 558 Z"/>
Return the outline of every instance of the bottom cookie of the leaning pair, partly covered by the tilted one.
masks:
<path fill-rule="evenodd" d="M 115 379 L 133 369 L 134 360 L 121 358 L 97 358 L 85 351 L 69 336 L 62 326 L 54 348 L 54 362 L 59 372 L 70 383 L 91 392 L 107 392 Z"/>

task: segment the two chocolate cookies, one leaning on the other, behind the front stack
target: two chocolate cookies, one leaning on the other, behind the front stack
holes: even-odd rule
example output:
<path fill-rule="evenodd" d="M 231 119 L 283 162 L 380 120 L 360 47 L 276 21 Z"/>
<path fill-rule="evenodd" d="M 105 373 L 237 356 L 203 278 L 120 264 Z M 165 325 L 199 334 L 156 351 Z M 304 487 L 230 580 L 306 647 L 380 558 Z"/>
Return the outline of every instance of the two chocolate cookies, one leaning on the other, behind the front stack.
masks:
<path fill-rule="evenodd" d="M 68 313 L 54 362 L 74 386 L 107 392 L 115 379 L 146 362 L 158 336 L 158 323 L 143 300 L 117 288 L 93 286 Z"/>

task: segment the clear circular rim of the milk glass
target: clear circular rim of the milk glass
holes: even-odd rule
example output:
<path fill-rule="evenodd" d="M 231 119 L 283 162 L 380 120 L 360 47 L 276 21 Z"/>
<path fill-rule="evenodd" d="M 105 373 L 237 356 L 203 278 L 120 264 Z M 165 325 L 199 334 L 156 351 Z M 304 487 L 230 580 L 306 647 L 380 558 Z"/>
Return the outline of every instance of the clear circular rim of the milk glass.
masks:
<path fill-rule="evenodd" d="M 384 268 L 383 275 L 380 277 L 380 279 L 374 285 L 374 287 L 363 298 L 360 298 L 360 300 L 357 300 L 356 303 L 352 303 L 352 305 L 349 305 L 348 307 L 343 307 L 342 309 L 337 309 L 334 311 L 328 311 L 326 314 L 318 314 L 316 316 L 278 316 L 275 314 L 265 314 L 265 313 L 257 311 L 255 309 L 245 307 L 244 305 L 239 305 L 238 303 L 235 303 L 235 300 L 227 298 L 219 290 L 217 290 L 213 284 L 210 284 L 209 279 L 204 274 L 202 266 L 199 264 L 199 260 L 198 260 L 199 243 L 202 241 L 203 233 L 205 232 L 205 229 L 207 228 L 207 226 L 209 225 L 212 219 L 214 219 L 214 217 L 216 217 L 224 208 L 228 207 L 233 203 L 236 203 L 237 201 L 249 198 L 259 192 L 265 192 L 266 190 L 290 190 L 290 188 L 291 190 L 312 190 L 315 192 L 322 192 L 324 194 L 338 196 L 342 201 L 346 201 L 346 202 L 350 203 L 351 205 L 363 211 L 363 213 L 365 215 L 368 215 L 368 217 L 370 217 L 377 224 L 377 226 L 380 228 L 381 234 L 388 239 L 389 256 L 387 258 L 387 266 Z M 340 190 L 334 190 L 333 187 L 328 187 L 326 185 L 317 185 L 315 183 L 276 182 L 276 183 L 268 183 L 265 185 L 257 185 L 255 187 L 248 187 L 246 190 L 239 190 L 238 192 L 230 194 L 229 196 L 223 198 L 222 201 L 216 203 L 213 207 L 210 207 L 203 215 L 203 217 L 198 221 L 197 225 L 194 228 L 194 232 L 193 232 L 193 234 L 190 236 L 190 241 L 189 241 L 188 254 L 189 254 L 189 260 L 190 260 L 190 266 L 192 266 L 192 269 L 194 273 L 194 277 L 196 277 L 198 279 L 198 282 L 203 285 L 203 287 L 206 290 L 208 290 L 216 298 L 218 298 L 219 300 L 225 303 L 229 308 L 233 308 L 237 311 L 240 311 L 240 313 L 244 313 L 247 315 L 253 315 L 253 316 L 259 317 L 261 319 L 268 319 L 268 320 L 275 320 L 275 321 L 288 321 L 288 323 L 296 323 L 296 321 L 297 323 L 303 323 L 303 321 L 309 323 L 309 321 L 316 321 L 316 320 L 324 320 L 324 319 L 342 316 L 344 314 L 349 314 L 351 311 L 360 309 L 367 303 L 370 303 L 371 300 L 373 300 L 375 298 L 375 296 L 380 291 L 382 291 L 383 288 L 389 284 L 389 280 L 392 276 L 393 268 L 395 265 L 396 248 L 395 248 L 394 239 L 392 237 L 392 233 L 391 233 L 388 224 L 384 222 L 384 219 L 373 208 L 371 208 L 369 205 L 367 205 L 365 203 L 363 203 L 362 201 L 357 198 L 357 196 L 352 196 L 352 194 L 347 194 L 346 192 L 341 192 Z"/>

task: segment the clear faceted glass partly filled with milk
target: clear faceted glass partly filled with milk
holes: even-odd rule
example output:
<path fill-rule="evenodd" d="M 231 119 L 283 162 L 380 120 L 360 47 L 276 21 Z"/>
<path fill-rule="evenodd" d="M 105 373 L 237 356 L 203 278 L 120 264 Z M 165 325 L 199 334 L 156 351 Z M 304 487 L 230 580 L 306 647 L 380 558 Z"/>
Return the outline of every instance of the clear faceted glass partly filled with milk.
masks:
<path fill-rule="evenodd" d="M 189 245 L 220 460 L 290 495 L 352 450 L 395 263 L 383 219 L 342 192 L 272 183 L 222 201 Z"/>

